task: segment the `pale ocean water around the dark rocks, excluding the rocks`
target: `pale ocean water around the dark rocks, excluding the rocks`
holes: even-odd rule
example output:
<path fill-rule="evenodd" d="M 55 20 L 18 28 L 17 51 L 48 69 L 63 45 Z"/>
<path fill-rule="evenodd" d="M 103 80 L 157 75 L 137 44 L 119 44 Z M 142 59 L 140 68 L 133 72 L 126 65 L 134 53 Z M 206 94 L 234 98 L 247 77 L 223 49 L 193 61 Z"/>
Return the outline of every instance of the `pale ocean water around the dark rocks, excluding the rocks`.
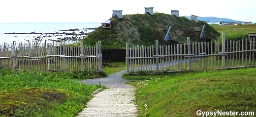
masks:
<path fill-rule="evenodd" d="M 89 33 L 93 29 L 99 27 L 100 23 L 0 23 L 0 45 L 12 43 L 24 43 L 30 40 L 32 43 L 40 34 L 5 34 L 5 33 L 79 33 L 81 31 Z M 78 28 L 79 31 L 61 31 Z M 42 42 L 51 43 L 58 38 L 74 37 L 74 35 L 50 35 L 42 38 Z M 82 37 L 81 37 L 82 38 Z"/>

